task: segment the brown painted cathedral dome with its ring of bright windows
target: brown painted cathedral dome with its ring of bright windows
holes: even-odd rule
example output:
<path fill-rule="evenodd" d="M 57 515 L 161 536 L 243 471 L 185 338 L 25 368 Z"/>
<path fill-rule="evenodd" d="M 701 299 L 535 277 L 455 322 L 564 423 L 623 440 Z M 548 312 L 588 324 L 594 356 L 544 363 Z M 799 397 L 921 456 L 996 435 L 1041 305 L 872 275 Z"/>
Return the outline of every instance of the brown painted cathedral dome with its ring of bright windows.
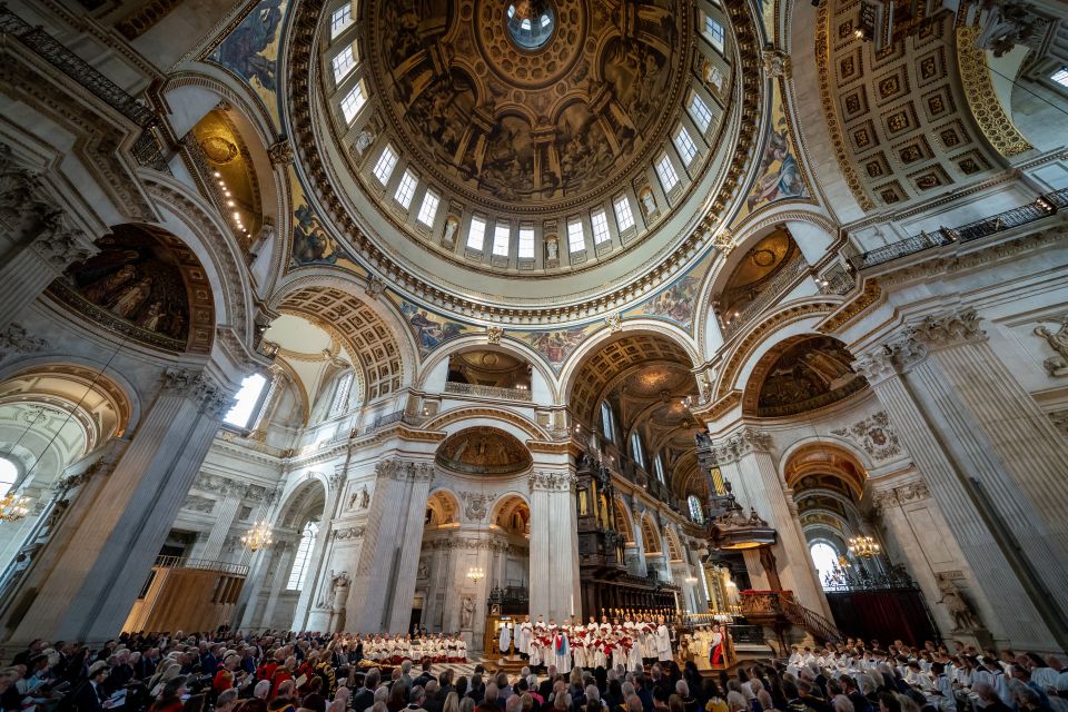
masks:
<path fill-rule="evenodd" d="M 755 134 L 741 117 L 759 116 L 746 9 L 358 8 L 318 20 L 326 120 L 298 140 L 342 247 L 479 304 L 580 303 L 683 268 L 730 211 Z"/>

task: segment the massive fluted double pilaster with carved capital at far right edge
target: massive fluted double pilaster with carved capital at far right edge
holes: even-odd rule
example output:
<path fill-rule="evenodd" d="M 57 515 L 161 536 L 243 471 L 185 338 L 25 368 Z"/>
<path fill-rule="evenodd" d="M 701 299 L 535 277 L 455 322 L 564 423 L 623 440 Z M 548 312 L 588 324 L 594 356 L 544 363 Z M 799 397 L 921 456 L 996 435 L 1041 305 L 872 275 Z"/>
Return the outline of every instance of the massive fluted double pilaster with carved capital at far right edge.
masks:
<path fill-rule="evenodd" d="M 992 617 L 1031 650 L 1068 646 L 1068 455 L 992 353 L 973 310 L 928 317 L 862 354 L 874 388 L 975 573 Z M 1061 475 L 1051 477 L 1051 475 Z M 1059 512 L 1059 517 L 1058 517 Z"/>

